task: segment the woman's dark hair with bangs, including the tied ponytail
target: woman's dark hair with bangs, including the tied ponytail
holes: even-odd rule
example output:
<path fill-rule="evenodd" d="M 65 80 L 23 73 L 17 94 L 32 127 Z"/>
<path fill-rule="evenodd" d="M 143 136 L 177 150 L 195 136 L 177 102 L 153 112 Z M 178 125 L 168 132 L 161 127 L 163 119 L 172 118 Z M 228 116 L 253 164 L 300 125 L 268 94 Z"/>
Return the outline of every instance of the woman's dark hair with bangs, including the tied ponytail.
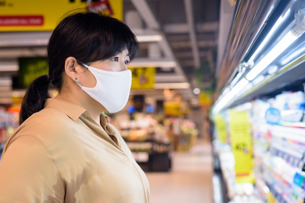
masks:
<path fill-rule="evenodd" d="M 53 31 L 48 47 L 49 74 L 35 79 L 23 98 L 19 124 L 44 107 L 49 84 L 60 91 L 65 60 L 69 56 L 88 64 L 106 60 L 128 49 L 130 60 L 138 44 L 130 28 L 118 19 L 90 12 L 77 12 L 63 18 Z"/>

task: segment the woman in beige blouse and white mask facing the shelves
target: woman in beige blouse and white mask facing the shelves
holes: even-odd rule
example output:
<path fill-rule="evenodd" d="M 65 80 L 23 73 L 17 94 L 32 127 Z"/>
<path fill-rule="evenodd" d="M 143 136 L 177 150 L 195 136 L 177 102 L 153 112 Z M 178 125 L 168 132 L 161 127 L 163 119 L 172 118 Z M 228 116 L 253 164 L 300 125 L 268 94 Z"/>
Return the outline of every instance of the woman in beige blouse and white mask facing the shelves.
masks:
<path fill-rule="evenodd" d="M 149 203 L 149 184 L 103 111 L 128 101 L 137 42 L 112 17 L 76 13 L 50 37 L 0 162 L 0 203 Z M 58 94 L 51 98 L 52 83 Z"/>

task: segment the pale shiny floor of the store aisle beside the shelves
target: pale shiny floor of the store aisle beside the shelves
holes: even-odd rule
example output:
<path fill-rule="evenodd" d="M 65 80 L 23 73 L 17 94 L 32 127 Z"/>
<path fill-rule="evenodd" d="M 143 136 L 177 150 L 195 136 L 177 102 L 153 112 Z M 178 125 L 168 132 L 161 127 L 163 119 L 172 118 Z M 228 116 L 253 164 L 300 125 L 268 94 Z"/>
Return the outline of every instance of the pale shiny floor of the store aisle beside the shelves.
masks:
<path fill-rule="evenodd" d="M 147 172 L 151 203 L 213 203 L 211 144 L 198 140 L 188 152 L 172 153 L 169 172 Z"/>

